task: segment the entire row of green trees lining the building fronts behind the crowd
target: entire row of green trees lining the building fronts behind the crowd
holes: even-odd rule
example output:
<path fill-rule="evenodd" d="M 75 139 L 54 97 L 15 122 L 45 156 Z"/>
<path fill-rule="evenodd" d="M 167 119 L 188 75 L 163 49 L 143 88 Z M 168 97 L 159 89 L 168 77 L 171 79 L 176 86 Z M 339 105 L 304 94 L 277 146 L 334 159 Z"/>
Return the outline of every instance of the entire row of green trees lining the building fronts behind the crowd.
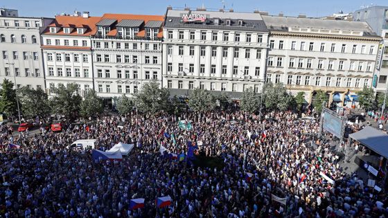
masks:
<path fill-rule="evenodd" d="M 3 80 L 0 95 L 0 110 L 8 116 L 17 116 L 17 98 L 24 118 L 35 116 L 46 117 L 56 113 L 67 118 L 74 119 L 78 116 L 85 118 L 96 116 L 103 112 L 103 100 L 95 91 L 87 91 L 84 98 L 78 94 L 78 84 L 71 83 L 52 90 L 53 98 L 48 98 L 42 89 L 21 87 L 18 91 L 13 89 L 14 84 L 10 80 Z M 263 94 L 255 93 L 249 88 L 244 91 L 240 99 L 240 109 L 249 112 L 258 112 L 261 109 L 284 111 L 288 109 L 301 110 L 305 93 L 291 96 L 283 84 L 265 84 Z M 326 93 L 318 91 L 313 98 L 312 105 L 317 111 L 321 111 L 322 102 L 328 102 Z M 141 91 L 134 98 L 123 95 L 116 99 L 116 109 L 119 113 L 128 113 L 136 108 L 138 111 L 158 113 L 180 113 L 184 109 L 193 111 L 211 111 L 216 107 L 226 109 L 230 104 L 230 98 L 224 93 L 215 96 L 211 91 L 194 89 L 188 97 L 188 104 L 176 96 L 170 98 L 170 92 L 166 88 L 159 88 L 157 82 L 144 84 Z"/>

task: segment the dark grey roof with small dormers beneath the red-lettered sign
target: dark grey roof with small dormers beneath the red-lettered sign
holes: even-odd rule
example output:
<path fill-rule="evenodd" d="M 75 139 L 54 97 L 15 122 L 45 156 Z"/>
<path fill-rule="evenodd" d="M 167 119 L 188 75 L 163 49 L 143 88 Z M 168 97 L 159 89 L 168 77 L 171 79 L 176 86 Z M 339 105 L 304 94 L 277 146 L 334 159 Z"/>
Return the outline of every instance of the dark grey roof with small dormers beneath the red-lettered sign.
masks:
<path fill-rule="evenodd" d="M 184 22 L 185 15 L 204 15 L 204 22 Z M 216 24 L 216 20 L 218 24 Z M 227 25 L 227 21 L 230 24 Z M 239 24 L 243 21 L 243 25 Z M 219 11 L 191 11 L 191 10 L 168 10 L 165 28 L 198 28 L 267 32 L 267 26 L 259 13 L 247 12 L 219 12 Z"/>

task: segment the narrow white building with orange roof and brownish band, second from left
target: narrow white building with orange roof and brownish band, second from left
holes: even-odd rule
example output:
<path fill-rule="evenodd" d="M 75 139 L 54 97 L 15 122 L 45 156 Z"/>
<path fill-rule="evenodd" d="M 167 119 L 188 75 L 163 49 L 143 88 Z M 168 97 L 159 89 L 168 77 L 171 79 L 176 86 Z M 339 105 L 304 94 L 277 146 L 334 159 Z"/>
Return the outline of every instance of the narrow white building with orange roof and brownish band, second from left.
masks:
<path fill-rule="evenodd" d="M 89 12 L 76 12 L 56 16 L 44 30 L 42 51 L 49 94 L 58 84 L 71 82 L 79 84 L 81 96 L 94 89 L 90 35 L 96 33 L 98 21 L 100 17 L 89 17 Z"/>

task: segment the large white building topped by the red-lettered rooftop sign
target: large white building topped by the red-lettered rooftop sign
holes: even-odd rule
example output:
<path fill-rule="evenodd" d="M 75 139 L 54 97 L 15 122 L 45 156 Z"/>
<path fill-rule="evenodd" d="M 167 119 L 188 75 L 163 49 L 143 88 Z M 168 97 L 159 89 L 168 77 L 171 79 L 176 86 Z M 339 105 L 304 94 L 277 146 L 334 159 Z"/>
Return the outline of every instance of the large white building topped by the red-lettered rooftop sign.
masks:
<path fill-rule="evenodd" d="M 162 86 L 172 94 L 261 91 L 268 30 L 258 12 L 168 8 L 163 33 Z"/>

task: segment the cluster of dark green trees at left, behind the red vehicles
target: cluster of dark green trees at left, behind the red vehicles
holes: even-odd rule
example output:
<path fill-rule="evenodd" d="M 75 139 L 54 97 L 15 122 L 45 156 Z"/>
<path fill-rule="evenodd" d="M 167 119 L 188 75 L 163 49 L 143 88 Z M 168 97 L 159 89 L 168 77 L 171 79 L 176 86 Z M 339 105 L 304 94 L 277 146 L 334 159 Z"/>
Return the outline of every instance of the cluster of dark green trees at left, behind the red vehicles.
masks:
<path fill-rule="evenodd" d="M 20 112 L 25 119 L 47 117 L 53 113 L 72 119 L 78 116 L 94 116 L 103 111 L 103 101 L 94 91 L 88 91 L 84 100 L 77 91 L 78 84 L 60 84 L 58 88 L 53 89 L 55 96 L 48 98 L 43 89 L 21 87 L 15 90 L 14 84 L 5 79 L 0 90 L 0 111 L 8 117 L 17 117 L 18 101 Z"/>

